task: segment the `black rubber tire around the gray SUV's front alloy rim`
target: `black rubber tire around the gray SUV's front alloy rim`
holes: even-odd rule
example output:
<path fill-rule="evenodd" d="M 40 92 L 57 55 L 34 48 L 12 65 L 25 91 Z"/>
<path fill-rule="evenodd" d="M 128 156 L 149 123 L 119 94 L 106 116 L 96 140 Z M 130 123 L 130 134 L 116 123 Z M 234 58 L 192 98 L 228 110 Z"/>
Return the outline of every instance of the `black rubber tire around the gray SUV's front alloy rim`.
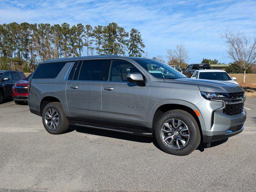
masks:
<path fill-rule="evenodd" d="M 162 126 L 166 121 L 172 118 L 179 119 L 182 122 L 184 122 L 189 130 L 189 139 L 185 144 L 185 146 L 183 146 L 180 149 L 175 149 L 167 146 L 167 144 L 163 141 L 163 138 L 162 138 L 162 131 L 161 131 Z M 200 135 L 198 124 L 195 118 L 191 114 L 183 110 L 171 110 L 171 111 L 165 112 L 157 120 L 157 123 L 155 126 L 155 138 L 163 151 L 173 155 L 185 156 L 193 152 L 199 146 L 201 135 Z"/>

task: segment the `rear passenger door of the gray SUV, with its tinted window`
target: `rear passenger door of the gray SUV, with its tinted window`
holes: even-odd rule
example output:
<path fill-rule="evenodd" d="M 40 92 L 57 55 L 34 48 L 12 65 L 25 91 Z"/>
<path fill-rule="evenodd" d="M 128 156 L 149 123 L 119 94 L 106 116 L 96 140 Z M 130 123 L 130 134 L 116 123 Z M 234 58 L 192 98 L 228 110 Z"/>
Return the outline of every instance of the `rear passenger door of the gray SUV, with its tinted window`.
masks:
<path fill-rule="evenodd" d="M 66 87 L 68 110 L 74 120 L 101 121 L 101 89 L 107 72 L 107 60 L 75 62 Z"/>

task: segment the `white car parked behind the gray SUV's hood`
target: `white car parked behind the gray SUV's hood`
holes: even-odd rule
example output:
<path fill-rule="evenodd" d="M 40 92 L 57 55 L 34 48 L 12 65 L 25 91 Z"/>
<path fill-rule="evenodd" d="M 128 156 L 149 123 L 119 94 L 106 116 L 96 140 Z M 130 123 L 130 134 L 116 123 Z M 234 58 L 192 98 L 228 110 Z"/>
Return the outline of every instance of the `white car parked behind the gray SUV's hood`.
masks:
<path fill-rule="evenodd" d="M 208 79 L 208 80 L 217 80 L 217 81 L 225 81 L 225 82 L 230 82 L 230 83 L 235 83 L 236 78 L 235 77 L 230 77 L 228 73 L 224 70 L 217 70 L 217 69 L 212 69 L 212 70 L 196 70 L 191 78 L 195 79 Z"/>

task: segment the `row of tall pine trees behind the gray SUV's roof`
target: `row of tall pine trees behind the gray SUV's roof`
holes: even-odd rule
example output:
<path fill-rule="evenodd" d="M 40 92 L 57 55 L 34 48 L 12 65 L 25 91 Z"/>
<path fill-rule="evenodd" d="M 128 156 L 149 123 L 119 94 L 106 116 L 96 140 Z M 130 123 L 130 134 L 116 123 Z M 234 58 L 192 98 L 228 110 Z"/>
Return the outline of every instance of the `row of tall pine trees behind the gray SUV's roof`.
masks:
<path fill-rule="evenodd" d="M 91 26 L 68 23 L 50 25 L 16 22 L 0 24 L 0 69 L 33 70 L 38 62 L 52 58 L 115 54 L 141 57 L 141 33 L 109 23 Z"/>

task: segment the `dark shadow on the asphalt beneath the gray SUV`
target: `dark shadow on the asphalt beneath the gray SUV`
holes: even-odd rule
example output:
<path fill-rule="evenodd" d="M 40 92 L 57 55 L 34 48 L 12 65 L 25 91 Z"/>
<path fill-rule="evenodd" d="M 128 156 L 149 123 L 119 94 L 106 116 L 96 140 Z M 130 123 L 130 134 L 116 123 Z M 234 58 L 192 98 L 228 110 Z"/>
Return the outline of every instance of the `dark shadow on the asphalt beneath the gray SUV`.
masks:
<path fill-rule="evenodd" d="M 123 134 L 119 132 L 113 132 L 113 131 L 107 131 L 107 130 L 99 130 L 99 129 L 93 129 L 93 128 L 84 128 L 80 126 L 74 126 L 70 125 L 67 132 L 77 131 L 79 133 L 87 133 L 97 136 L 103 136 L 103 137 L 109 137 L 109 138 L 116 138 L 116 139 L 122 139 L 122 140 L 128 140 L 133 142 L 141 142 L 141 143 L 153 143 L 153 145 L 158 148 L 159 150 L 163 151 L 159 144 L 157 143 L 157 140 L 155 137 L 145 137 L 145 136 L 138 136 L 138 135 L 131 135 L 131 134 Z M 223 144 L 228 140 L 220 140 L 216 142 L 212 142 L 210 148 L 218 146 Z M 204 149 L 207 148 L 205 143 L 200 143 L 198 148 L 196 150 L 199 150 L 200 152 L 204 152 Z"/>

